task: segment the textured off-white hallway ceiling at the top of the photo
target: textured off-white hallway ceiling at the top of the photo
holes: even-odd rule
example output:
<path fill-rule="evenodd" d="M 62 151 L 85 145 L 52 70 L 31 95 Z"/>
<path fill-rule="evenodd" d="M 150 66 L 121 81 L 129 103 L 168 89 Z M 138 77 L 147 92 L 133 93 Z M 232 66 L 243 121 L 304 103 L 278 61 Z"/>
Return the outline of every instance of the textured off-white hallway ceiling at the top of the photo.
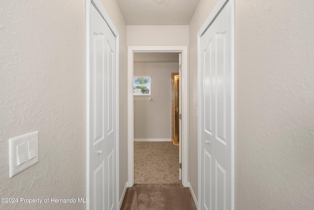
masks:
<path fill-rule="evenodd" d="M 126 24 L 188 25 L 200 0 L 117 0 Z"/>

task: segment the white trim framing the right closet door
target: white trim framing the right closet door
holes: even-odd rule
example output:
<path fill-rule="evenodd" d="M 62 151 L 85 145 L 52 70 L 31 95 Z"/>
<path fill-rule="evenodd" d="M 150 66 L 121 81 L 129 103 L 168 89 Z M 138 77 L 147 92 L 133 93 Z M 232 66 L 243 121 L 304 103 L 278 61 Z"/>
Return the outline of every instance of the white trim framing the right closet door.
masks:
<path fill-rule="evenodd" d="M 230 154 L 231 154 L 231 210 L 235 209 L 235 0 L 219 0 L 214 9 L 211 11 L 209 17 L 203 24 L 202 28 L 197 33 L 197 82 L 198 82 L 198 112 L 201 113 L 201 95 L 200 90 L 202 87 L 202 69 L 201 69 L 201 36 L 210 27 L 212 22 L 215 20 L 219 12 L 225 6 L 227 2 L 230 2 L 230 43 L 231 43 L 231 144 L 230 144 Z M 198 119 L 198 124 L 200 125 L 201 118 Z M 201 126 L 198 126 L 198 209 L 201 209 Z"/>

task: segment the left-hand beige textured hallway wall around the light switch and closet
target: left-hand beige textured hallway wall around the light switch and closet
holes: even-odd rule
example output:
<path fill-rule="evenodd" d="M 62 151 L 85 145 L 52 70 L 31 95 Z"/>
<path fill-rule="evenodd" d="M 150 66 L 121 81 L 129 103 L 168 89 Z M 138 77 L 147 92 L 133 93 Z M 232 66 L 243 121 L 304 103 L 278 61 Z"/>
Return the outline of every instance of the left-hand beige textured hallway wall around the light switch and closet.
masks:
<path fill-rule="evenodd" d="M 116 2 L 103 3 L 120 33 L 120 79 L 126 83 L 126 26 Z M 0 19 L 0 197 L 85 197 L 85 0 L 3 1 Z M 120 114 L 125 114 L 126 87 L 120 90 Z M 120 183 L 124 186 L 123 119 Z M 8 139 L 35 130 L 39 163 L 9 179 Z M 0 203 L 0 209 L 83 210 L 86 205 Z"/>

